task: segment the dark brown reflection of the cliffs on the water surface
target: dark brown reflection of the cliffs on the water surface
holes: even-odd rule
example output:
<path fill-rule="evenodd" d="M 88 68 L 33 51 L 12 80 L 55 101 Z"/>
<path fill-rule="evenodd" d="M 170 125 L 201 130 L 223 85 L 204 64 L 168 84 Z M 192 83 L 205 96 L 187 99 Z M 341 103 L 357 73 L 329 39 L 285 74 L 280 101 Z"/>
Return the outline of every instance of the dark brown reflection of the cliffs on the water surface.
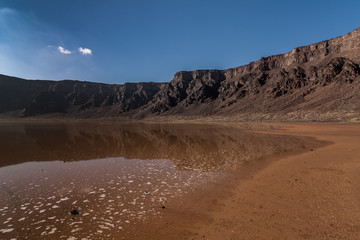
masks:
<path fill-rule="evenodd" d="M 0 135 L 0 166 L 121 156 L 170 159 L 179 169 L 225 170 L 314 143 L 200 124 L 16 124 L 0 126 Z"/>

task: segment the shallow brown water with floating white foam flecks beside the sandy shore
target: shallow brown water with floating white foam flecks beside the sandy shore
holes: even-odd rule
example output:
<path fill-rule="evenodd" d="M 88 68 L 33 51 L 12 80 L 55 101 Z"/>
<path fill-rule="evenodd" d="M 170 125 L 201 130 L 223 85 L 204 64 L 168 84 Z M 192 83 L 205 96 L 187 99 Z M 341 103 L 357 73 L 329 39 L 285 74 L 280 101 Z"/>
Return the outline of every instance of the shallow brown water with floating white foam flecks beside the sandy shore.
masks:
<path fill-rule="evenodd" d="M 0 239 L 119 239 L 169 202 L 306 145 L 221 125 L 1 124 Z"/>

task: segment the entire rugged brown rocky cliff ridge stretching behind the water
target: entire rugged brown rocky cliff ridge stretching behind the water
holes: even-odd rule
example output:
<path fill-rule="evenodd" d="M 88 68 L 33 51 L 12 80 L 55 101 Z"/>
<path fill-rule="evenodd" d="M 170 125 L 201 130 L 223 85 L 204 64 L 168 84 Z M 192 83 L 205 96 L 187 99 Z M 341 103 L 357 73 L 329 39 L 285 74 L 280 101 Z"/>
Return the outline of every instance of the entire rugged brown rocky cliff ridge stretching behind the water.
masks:
<path fill-rule="evenodd" d="M 212 116 L 360 119 L 360 29 L 226 70 L 181 71 L 169 83 L 107 85 L 0 76 L 0 112 L 24 116 Z"/>

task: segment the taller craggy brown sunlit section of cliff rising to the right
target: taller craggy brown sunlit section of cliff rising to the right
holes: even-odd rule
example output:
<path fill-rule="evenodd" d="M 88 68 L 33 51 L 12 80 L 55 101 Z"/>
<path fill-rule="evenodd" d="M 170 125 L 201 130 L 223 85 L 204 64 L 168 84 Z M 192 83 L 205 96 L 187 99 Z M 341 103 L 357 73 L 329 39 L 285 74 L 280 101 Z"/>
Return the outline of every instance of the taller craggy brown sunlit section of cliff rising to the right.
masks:
<path fill-rule="evenodd" d="M 178 72 L 150 113 L 240 119 L 359 116 L 360 29 L 227 70 Z"/>

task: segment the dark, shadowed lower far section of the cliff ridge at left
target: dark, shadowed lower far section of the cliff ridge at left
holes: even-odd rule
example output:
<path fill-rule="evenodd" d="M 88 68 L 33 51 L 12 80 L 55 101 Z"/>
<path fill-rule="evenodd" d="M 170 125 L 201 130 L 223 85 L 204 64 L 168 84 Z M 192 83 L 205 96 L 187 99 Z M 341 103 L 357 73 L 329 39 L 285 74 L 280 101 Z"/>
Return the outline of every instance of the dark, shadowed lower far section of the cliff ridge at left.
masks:
<path fill-rule="evenodd" d="M 62 113 L 70 116 L 115 116 L 147 104 L 163 83 L 109 85 L 80 81 L 31 81 L 0 75 L 0 112 L 23 116 Z"/>

